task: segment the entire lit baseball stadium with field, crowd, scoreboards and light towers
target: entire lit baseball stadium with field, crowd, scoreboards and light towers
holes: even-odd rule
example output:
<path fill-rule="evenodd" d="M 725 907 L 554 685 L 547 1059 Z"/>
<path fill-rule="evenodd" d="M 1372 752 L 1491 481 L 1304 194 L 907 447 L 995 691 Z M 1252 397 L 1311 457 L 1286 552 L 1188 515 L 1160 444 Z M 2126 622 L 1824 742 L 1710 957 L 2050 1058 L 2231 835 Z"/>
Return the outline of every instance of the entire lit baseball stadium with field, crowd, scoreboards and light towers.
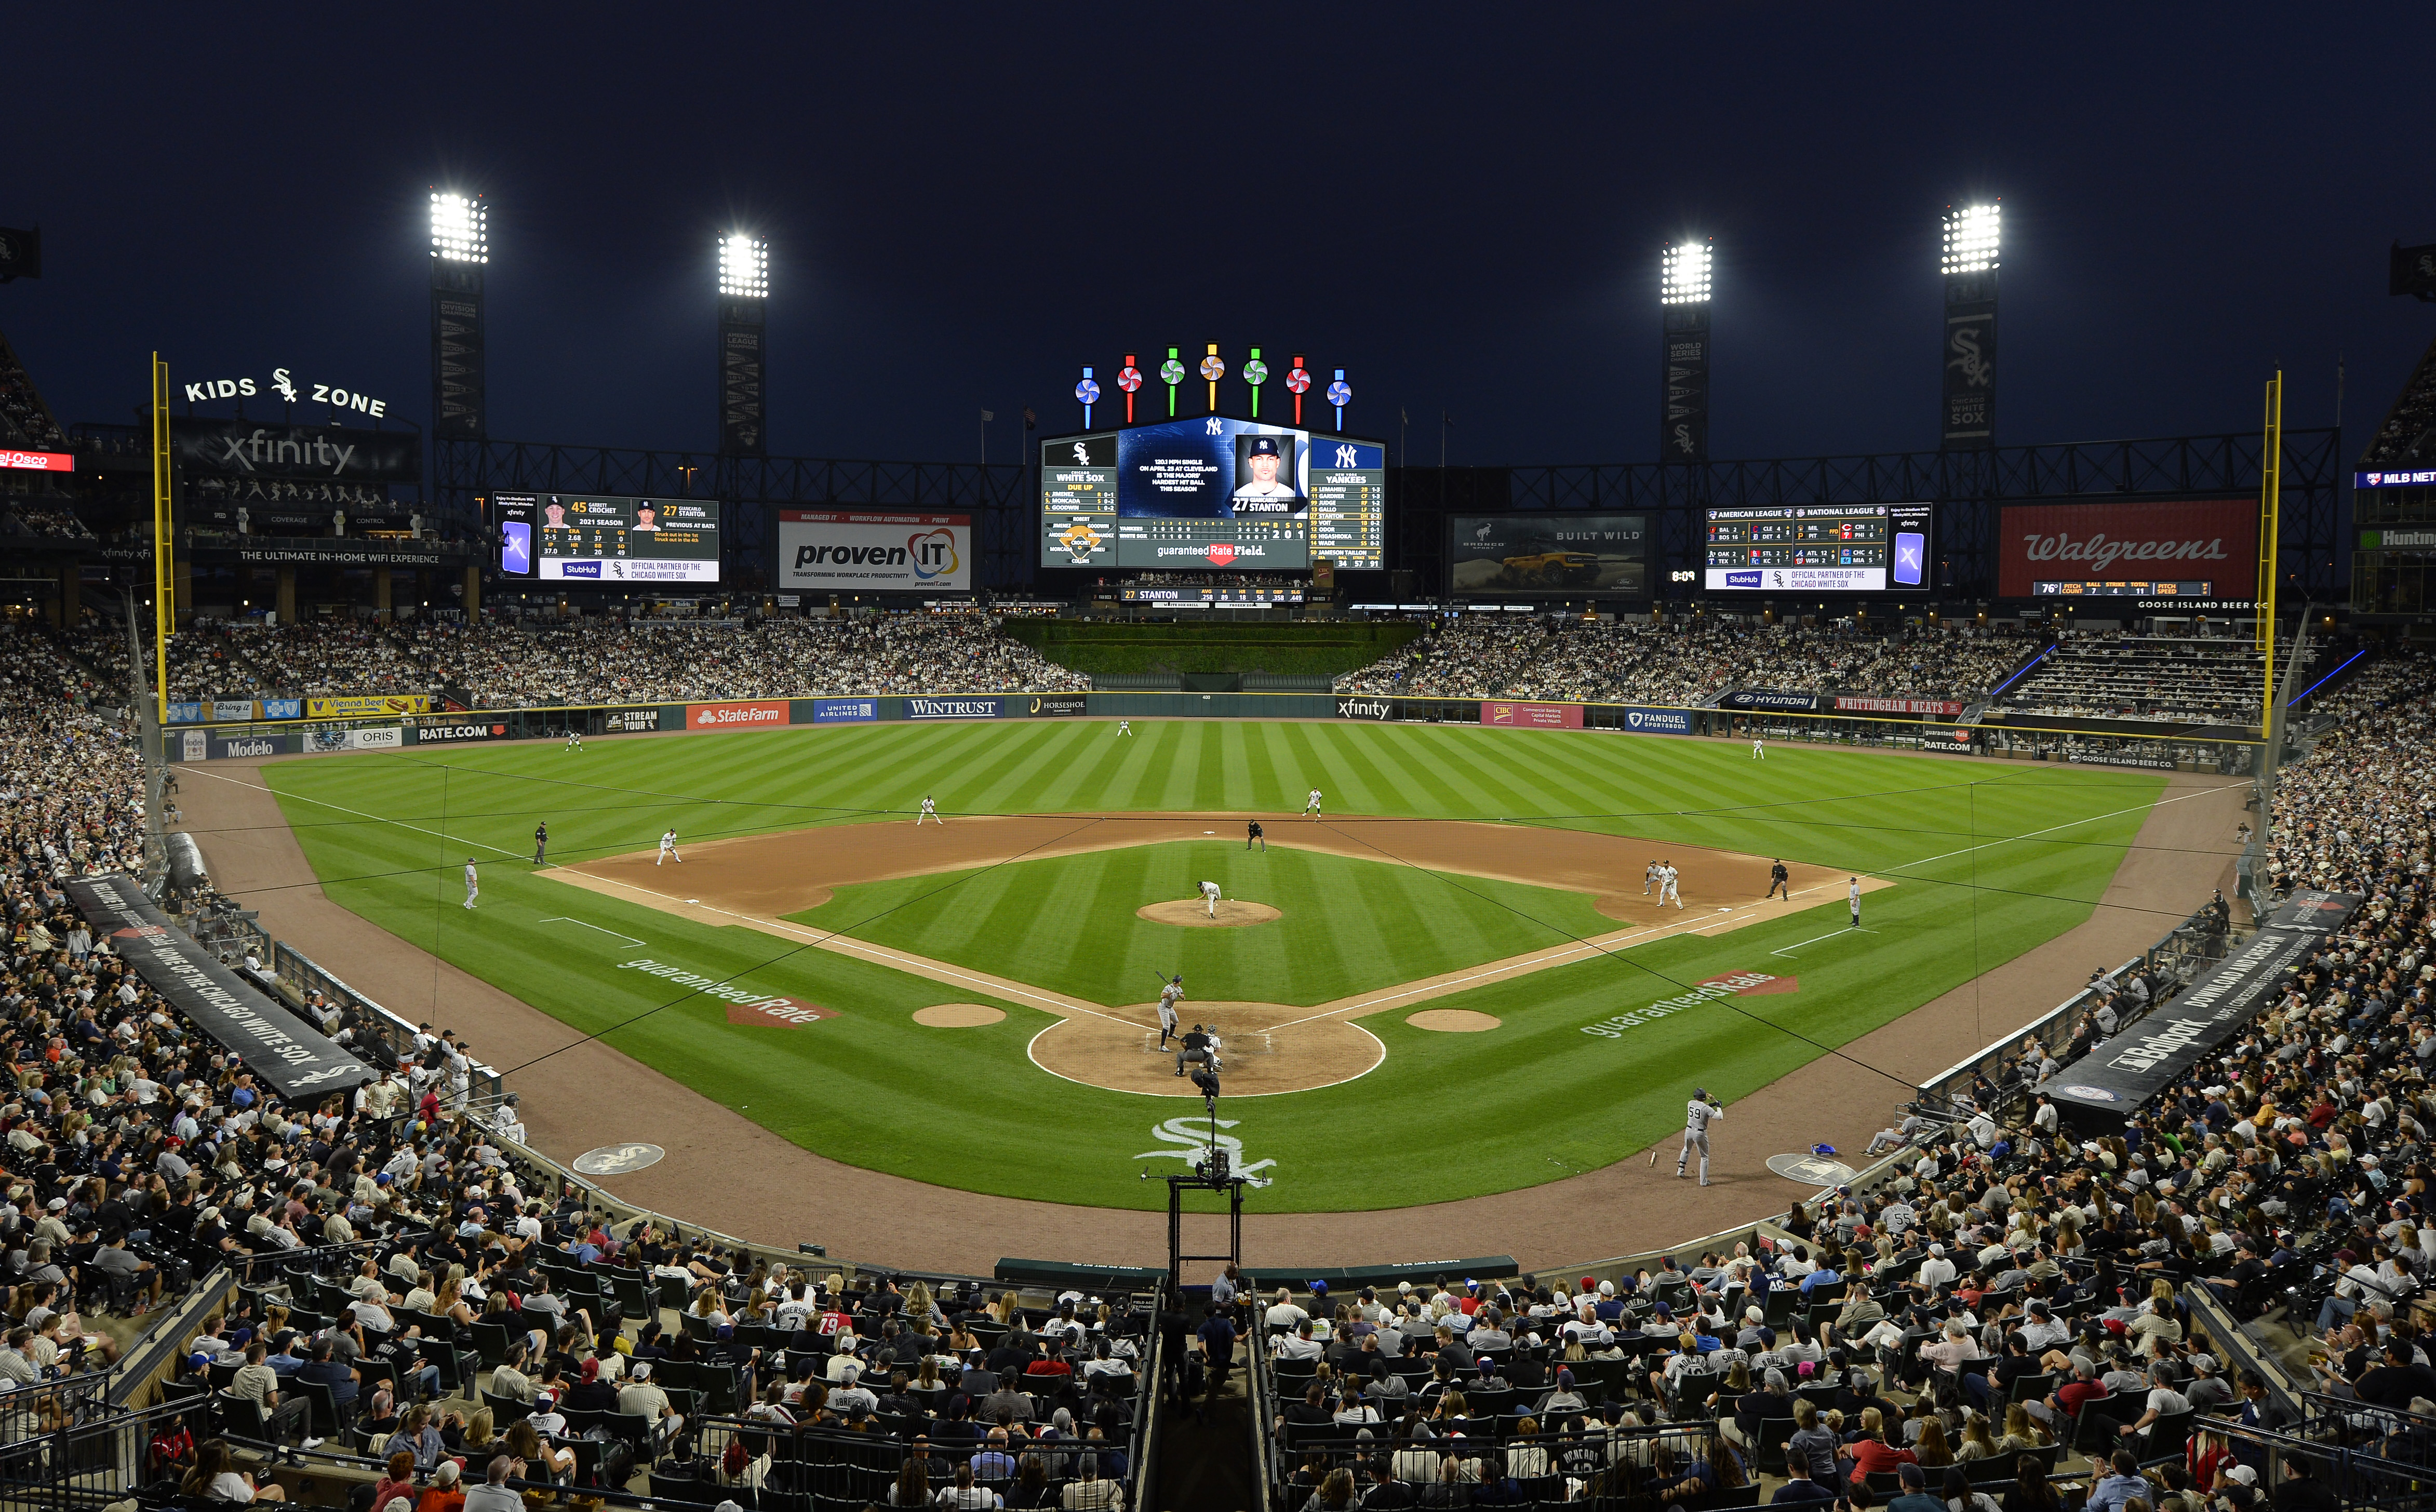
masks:
<path fill-rule="evenodd" d="M 2431 1505 L 2436 346 L 2000 441 L 1963 197 L 1922 450 L 1676 239 L 1661 460 L 1174 309 L 875 463 L 745 229 L 716 448 L 509 441 L 490 214 L 407 426 L 0 343 L 12 1500 Z"/>

